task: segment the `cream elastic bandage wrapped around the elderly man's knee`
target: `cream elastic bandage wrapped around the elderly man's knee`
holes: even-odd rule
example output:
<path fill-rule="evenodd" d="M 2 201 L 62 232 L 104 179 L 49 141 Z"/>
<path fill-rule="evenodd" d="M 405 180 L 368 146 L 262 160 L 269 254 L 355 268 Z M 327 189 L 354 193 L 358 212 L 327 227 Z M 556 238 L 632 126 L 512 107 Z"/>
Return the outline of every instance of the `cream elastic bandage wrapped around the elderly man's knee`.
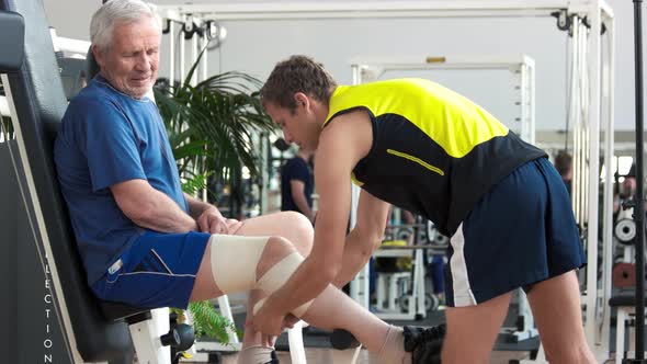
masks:
<path fill-rule="evenodd" d="M 257 280 L 257 266 L 269 239 L 269 237 L 212 236 L 209 240 L 213 278 L 224 294 L 261 289 L 270 295 L 287 282 L 304 260 L 298 252 L 283 258 L 260 280 Z M 264 299 L 261 299 L 254 305 L 254 314 L 263 303 Z M 311 303 L 310 300 L 295 308 L 292 315 L 300 318 Z"/>

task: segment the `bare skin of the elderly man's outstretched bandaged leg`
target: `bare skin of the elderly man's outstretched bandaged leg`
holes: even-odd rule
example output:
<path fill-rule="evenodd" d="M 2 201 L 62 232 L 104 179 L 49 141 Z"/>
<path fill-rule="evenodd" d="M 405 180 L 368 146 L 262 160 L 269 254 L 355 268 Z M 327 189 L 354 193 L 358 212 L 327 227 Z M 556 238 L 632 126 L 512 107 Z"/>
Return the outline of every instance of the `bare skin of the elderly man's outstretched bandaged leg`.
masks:
<path fill-rule="evenodd" d="M 215 237 L 217 238 L 217 237 Z M 211 244 L 209 241 L 205 257 L 197 273 L 194 291 L 191 300 L 201 300 L 217 297 L 223 291 L 214 282 L 212 273 Z M 243 243 L 241 241 L 241 243 Z M 236 247 L 235 244 L 232 247 Z M 236 248 L 232 248 L 236 249 Z M 270 238 L 263 249 L 260 261 L 257 265 L 257 276 L 262 280 L 265 273 L 280 264 L 286 257 L 295 252 L 294 247 L 285 239 Z M 241 266 L 241 269 L 245 269 Z M 247 289 L 252 286 L 247 287 Z M 224 289 L 227 292 L 227 289 Z M 404 352 L 404 339 L 401 332 L 394 329 L 364 310 L 351 298 L 330 285 L 316 298 L 303 318 L 310 323 L 321 328 L 343 328 L 352 332 L 364 346 L 374 352 L 381 352 L 385 363 L 398 363 L 410 361 L 410 354 Z M 394 332 L 395 330 L 395 332 Z M 389 344 L 387 337 L 391 331 Z M 387 342 L 387 348 L 382 348 Z M 382 351 L 381 351 L 382 350 Z"/>

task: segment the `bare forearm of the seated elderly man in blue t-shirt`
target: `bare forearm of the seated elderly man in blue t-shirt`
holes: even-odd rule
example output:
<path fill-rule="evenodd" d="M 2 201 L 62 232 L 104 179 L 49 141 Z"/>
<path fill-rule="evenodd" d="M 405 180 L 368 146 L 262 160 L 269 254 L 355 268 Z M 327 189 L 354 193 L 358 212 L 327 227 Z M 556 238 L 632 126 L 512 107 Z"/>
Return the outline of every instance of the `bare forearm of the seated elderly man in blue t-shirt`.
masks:
<path fill-rule="evenodd" d="M 146 180 L 116 183 L 110 190 L 124 215 L 138 226 L 160 232 L 197 230 L 195 219 Z"/>

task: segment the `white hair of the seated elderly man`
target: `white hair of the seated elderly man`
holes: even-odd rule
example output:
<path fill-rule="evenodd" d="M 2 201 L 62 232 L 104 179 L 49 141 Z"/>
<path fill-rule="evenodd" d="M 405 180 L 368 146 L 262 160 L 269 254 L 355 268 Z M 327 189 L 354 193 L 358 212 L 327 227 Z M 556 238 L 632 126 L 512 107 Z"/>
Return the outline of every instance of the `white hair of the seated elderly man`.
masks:
<path fill-rule="evenodd" d="M 113 30 L 116 23 L 136 23 L 147 18 L 157 20 L 157 24 L 161 30 L 155 5 L 140 0 L 111 0 L 92 15 L 90 41 L 100 50 L 106 50 L 112 43 Z"/>

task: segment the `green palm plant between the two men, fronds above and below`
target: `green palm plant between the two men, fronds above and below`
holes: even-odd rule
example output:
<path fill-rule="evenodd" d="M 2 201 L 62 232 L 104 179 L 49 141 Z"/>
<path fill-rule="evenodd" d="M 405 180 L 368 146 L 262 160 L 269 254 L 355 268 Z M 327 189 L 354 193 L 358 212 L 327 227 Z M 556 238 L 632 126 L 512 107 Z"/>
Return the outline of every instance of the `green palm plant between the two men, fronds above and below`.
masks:
<path fill-rule="evenodd" d="M 246 168 L 251 175 L 258 175 L 261 158 L 252 144 L 253 136 L 273 130 L 261 107 L 261 82 L 232 71 L 193 86 L 190 80 L 201 58 L 202 53 L 183 82 L 155 88 L 183 187 L 193 195 L 206 187 L 209 177 L 234 185 L 234 171 Z M 204 332 L 229 342 L 226 328 L 234 328 L 232 323 L 215 312 L 208 302 L 191 304 L 189 311 L 197 334 Z"/>

